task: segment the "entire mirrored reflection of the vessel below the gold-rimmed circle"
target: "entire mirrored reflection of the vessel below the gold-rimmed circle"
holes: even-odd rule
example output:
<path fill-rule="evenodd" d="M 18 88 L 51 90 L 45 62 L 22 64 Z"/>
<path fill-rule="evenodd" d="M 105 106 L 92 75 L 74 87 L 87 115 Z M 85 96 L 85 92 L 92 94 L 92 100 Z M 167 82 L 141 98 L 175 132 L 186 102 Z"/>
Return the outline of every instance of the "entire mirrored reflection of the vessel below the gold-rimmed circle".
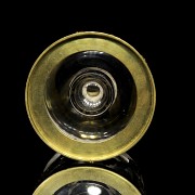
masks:
<path fill-rule="evenodd" d="M 55 154 L 47 164 L 34 195 L 145 195 L 135 161 L 122 154 L 108 160 L 77 161 Z"/>

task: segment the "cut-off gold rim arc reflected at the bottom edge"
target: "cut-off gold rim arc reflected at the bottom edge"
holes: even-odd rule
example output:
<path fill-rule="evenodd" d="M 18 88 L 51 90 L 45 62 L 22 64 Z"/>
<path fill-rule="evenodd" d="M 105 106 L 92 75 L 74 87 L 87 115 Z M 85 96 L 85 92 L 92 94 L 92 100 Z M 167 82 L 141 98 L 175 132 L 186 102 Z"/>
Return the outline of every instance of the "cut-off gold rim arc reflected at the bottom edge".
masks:
<path fill-rule="evenodd" d="M 114 187 L 122 195 L 141 195 L 139 190 L 121 176 L 102 168 L 77 167 L 58 171 L 46 179 L 34 192 L 34 195 L 54 194 L 62 186 L 72 182 L 91 180 Z"/>

